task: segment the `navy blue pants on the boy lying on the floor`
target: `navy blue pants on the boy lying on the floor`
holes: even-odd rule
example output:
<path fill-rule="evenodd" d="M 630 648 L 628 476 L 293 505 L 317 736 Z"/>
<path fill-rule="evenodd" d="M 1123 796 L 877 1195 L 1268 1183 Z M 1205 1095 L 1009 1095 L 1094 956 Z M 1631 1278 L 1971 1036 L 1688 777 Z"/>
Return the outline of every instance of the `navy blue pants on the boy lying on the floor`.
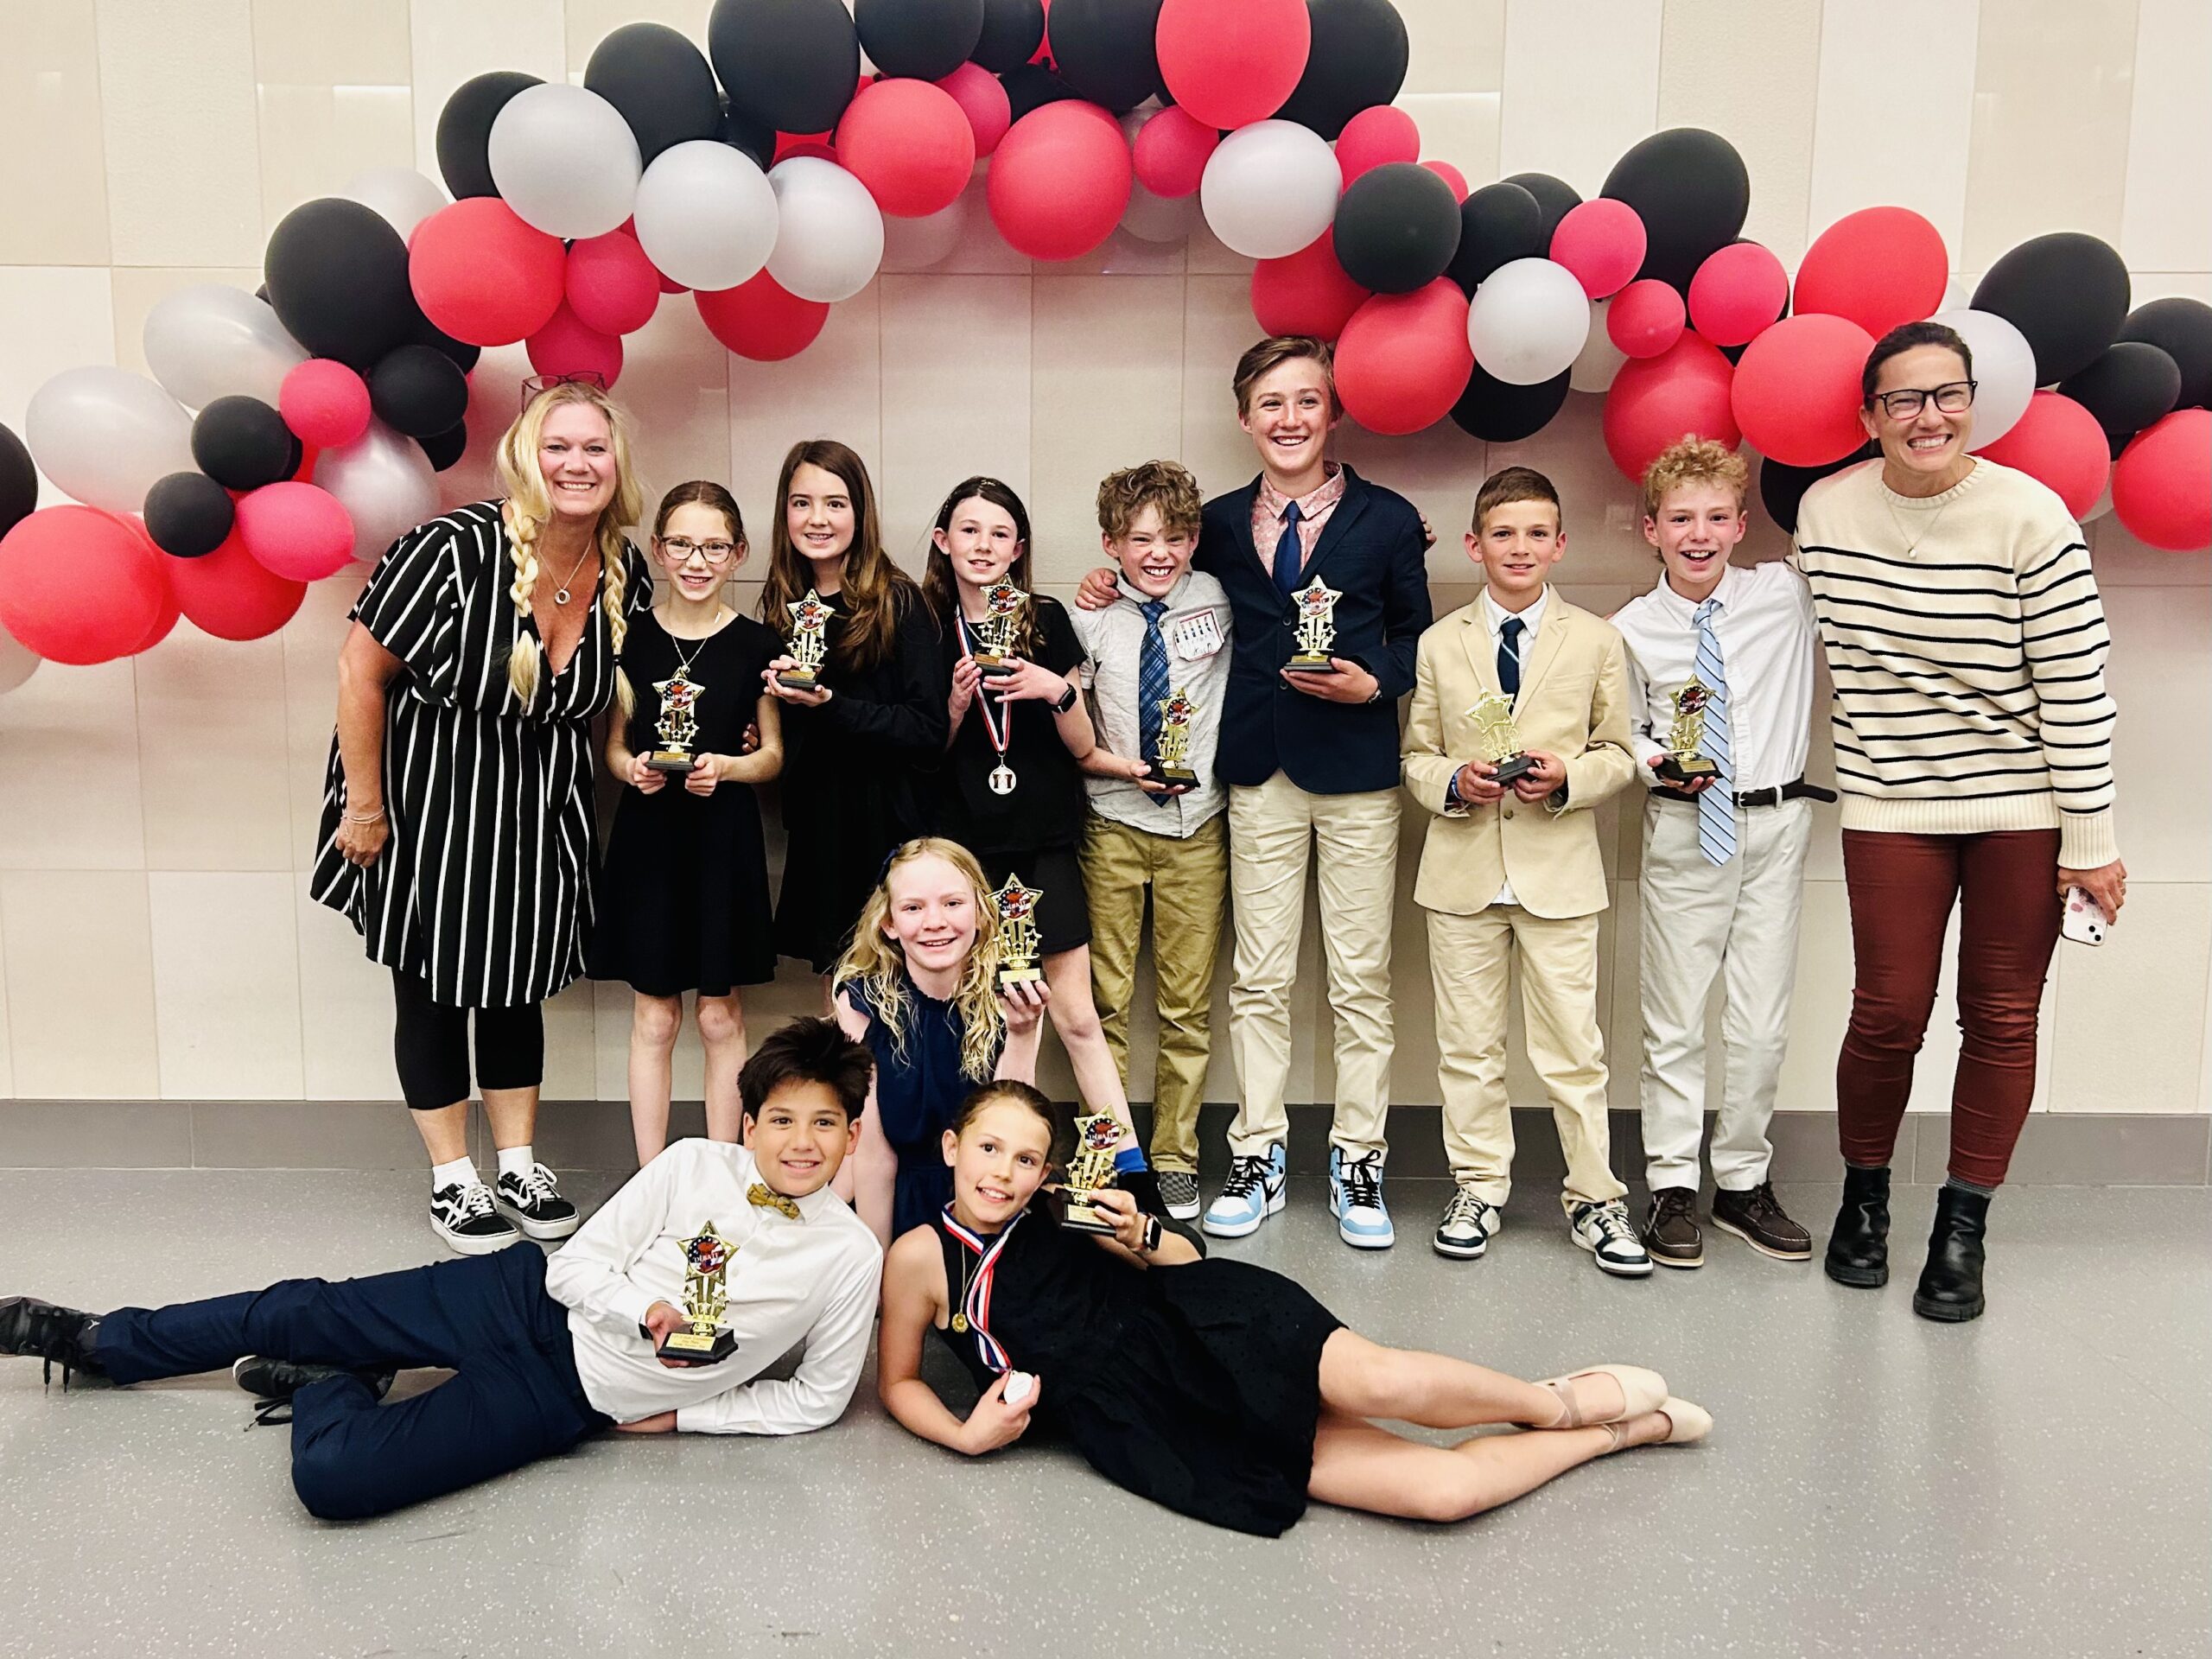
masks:
<path fill-rule="evenodd" d="M 383 1515 L 566 1451 L 608 1418 L 584 1398 L 568 1310 L 531 1245 L 372 1279 L 285 1279 L 175 1307 L 119 1307 L 95 1352 L 115 1383 L 246 1354 L 453 1378 L 396 1405 L 334 1376 L 292 1400 L 292 1486 L 323 1520 Z"/>

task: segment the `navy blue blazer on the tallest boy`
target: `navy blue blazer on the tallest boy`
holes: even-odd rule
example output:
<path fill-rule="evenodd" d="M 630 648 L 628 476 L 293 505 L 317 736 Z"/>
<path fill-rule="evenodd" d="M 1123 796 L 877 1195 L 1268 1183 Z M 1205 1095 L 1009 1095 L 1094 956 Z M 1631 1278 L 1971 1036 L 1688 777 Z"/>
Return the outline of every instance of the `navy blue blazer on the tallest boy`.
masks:
<path fill-rule="evenodd" d="M 1398 699 L 1413 690 L 1413 650 L 1429 626 L 1427 538 L 1405 495 L 1349 467 L 1298 586 L 1316 575 L 1343 593 L 1332 653 L 1383 686 L 1371 703 L 1325 703 L 1283 684 L 1298 644 L 1298 606 L 1274 584 L 1274 549 L 1252 546 L 1259 482 L 1206 502 L 1192 564 L 1230 595 L 1234 646 L 1214 776 L 1265 783 L 1276 772 L 1310 794 L 1398 787 Z"/>

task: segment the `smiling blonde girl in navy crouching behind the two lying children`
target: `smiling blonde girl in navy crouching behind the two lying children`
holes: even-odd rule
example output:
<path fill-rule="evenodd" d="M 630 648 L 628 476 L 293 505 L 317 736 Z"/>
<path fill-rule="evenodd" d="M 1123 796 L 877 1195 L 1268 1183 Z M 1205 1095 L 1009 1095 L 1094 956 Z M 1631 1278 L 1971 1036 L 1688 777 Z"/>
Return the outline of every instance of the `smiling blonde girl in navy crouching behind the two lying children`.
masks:
<path fill-rule="evenodd" d="M 845 1035 L 876 1055 L 852 1208 L 889 1243 L 951 1197 L 942 1137 L 975 1084 L 1037 1079 L 1046 989 L 998 989 L 982 865 L 938 836 L 889 856 L 832 987 Z"/>

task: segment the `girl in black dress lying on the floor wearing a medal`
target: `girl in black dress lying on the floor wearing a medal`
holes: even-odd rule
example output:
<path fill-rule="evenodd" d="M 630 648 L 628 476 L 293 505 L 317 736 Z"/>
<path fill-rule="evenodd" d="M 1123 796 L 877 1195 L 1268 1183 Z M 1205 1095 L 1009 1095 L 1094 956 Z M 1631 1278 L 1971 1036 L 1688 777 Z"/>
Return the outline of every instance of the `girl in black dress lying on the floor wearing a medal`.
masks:
<path fill-rule="evenodd" d="M 1274 1537 L 1307 1498 L 1451 1522 L 1608 1451 L 1712 1429 L 1635 1365 L 1522 1383 L 1369 1343 L 1281 1274 L 1201 1261 L 1128 1192 L 1093 1197 L 1110 1239 L 1053 1225 L 1031 1199 L 1055 1128 L 1037 1091 L 978 1088 L 945 1133 L 951 1203 L 885 1259 L 876 1387 L 925 1440 L 980 1455 L 1042 1416 L 1117 1486 Z M 964 1420 L 920 1376 L 931 1329 L 982 1389 Z M 1546 1433 L 1436 1447 L 1369 1418 Z"/>

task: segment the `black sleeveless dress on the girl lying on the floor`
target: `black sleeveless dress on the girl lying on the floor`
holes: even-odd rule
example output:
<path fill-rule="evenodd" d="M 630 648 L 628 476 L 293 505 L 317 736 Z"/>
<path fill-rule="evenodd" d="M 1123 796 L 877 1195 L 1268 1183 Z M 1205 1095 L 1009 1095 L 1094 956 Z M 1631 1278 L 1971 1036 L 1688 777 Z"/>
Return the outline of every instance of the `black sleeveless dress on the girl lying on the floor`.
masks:
<path fill-rule="evenodd" d="M 958 1305 L 975 1256 L 942 1214 L 931 1225 Z M 1031 1210 L 998 1256 L 987 1318 L 1009 1365 L 1042 1380 L 1040 1425 L 1124 1491 L 1263 1537 L 1305 1513 L 1321 1347 L 1343 1321 L 1303 1285 L 1245 1261 L 1135 1267 Z M 938 1336 L 991 1385 L 973 1329 Z"/>

